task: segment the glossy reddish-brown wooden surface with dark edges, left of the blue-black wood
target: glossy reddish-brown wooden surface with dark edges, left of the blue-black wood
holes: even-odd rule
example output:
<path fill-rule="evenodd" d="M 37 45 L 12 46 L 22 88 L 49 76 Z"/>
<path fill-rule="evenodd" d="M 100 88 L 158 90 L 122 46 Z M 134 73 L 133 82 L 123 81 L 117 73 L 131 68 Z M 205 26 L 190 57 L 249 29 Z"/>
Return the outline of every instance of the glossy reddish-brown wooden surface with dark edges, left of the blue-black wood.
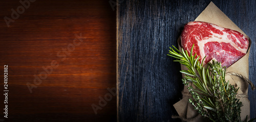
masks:
<path fill-rule="evenodd" d="M 116 96 L 97 114 L 99 96 L 116 87 L 116 12 L 109 1 L 35 1 L 10 23 L 19 1 L 0 2 L 0 121 L 115 121 Z M 73 44 L 83 43 L 57 56 Z M 63 59 L 66 55 L 66 59 Z M 58 67 L 32 89 L 34 75 Z M 8 118 L 4 118 L 4 65 L 8 64 Z"/>

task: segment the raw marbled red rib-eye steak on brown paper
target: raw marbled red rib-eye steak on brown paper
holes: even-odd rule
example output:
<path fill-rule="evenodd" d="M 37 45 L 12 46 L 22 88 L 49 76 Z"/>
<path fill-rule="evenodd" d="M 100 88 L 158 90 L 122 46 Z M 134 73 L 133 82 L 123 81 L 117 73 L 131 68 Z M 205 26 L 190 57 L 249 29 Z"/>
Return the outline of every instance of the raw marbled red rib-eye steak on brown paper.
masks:
<path fill-rule="evenodd" d="M 238 31 L 226 29 L 212 23 L 191 21 L 184 26 L 181 34 L 181 46 L 190 54 L 200 56 L 200 62 L 206 56 L 203 65 L 212 58 L 229 67 L 242 58 L 248 49 L 248 39 Z"/>

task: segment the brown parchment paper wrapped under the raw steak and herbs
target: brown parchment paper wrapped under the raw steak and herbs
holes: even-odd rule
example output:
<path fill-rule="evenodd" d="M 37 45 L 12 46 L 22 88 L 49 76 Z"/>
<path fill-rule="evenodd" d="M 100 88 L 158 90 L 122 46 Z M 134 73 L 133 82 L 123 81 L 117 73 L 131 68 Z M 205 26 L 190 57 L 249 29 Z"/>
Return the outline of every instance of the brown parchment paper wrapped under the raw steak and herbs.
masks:
<path fill-rule="evenodd" d="M 249 37 L 236 25 L 234 24 L 214 3 L 210 4 L 205 8 L 205 10 L 195 19 L 195 21 L 205 21 L 214 23 L 220 27 L 236 30 L 246 36 L 249 40 L 249 48 L 247 54 L 242 57 L 239 61 L 232 64 L 226 69 L 226 72 L 236 72 L 243 75 L 246 78 L 249 78 L 249 68 L 248 68 L 248 58 L 250 52 L 251 40 Z M 180 47 L 180 38 L 178 39 L 179 49 Z M 181 69 L 185 70 L 186 67 L 181 65 Z M 184 75 L 182 75 L 184 76 Z M 239 88 L 237 97 L 243 103 L 241 107 L 241 119 L 245 120 L 246 115 L 248 115 L 248 120 L 250 118 L 250 101 L 248 100 L 248 83 L 245 82 L 242 78 L 233 75 L 226 75 L 226 81 L 229 80 L 229 83 L 235 85 Z M 193 86 L 195 88 L 195 86 Z M 188 103 L 190 97 L 187 87 L 184 86 L 182 91 L 183 99 L 176 104 L 174 104 L 175 109 L 177 110 L 180 117 L 185 118 L 183 120 L 187 121 L 207 121 L 205 118 L 200 116 L 196 110 L 194 110 L 193 105 Z"/>

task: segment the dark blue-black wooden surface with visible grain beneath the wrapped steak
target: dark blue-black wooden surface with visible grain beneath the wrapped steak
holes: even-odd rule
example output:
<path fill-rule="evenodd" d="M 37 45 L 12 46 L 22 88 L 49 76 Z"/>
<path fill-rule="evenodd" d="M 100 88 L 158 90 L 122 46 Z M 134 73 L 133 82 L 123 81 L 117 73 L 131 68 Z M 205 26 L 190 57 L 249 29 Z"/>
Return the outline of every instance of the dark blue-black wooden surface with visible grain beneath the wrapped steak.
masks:
<path fill-rule="evenodd" d="M 212 1 L 252 40 L 249 79 L 256 84 L 255 1 Z M 180 121 L 173 104 L 182 95 L 180 64 L 169 46 L 185 23 L 210 1 L 123 1 L 117 12 L 117 87 L 119 121 Z M 250 116 L 256 117 L 256 91 L 249 89 Z"/>

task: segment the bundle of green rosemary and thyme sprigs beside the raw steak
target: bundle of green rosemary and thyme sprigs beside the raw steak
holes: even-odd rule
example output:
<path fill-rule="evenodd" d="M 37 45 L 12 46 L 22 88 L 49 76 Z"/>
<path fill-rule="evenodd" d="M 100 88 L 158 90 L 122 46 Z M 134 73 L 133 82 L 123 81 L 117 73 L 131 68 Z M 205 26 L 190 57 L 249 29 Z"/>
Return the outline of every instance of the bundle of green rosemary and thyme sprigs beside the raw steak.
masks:
<path fill-rule="evenodd" d="M 193 96 L 189 99 L 194 108 L 212 121 L 242 121 L 240 117 L 242 102 L 237 99 L 238 89 L 225 80 L 225 67 L 220 62 L 212 61 L 207 68 L 199 62 L 196 54 L 193 56 L 193 47 L 190 55 L 187 51 L 180 52 L 175 46 L 170 47 L 168 56 L 176 58 L 187 67 L 181 70 L 185 74 L 183 84 L 188 86 L 188 91 Z M 205 58 L 205 57 L 204 57 Z M 204 60 L 204 59 L 203 59 Z M 203 62 L 203 61 L 202 61 Z M 196 88 L 189 85 L 192 82 Z M 255 120 L 251 119 L 250 121 Z"/>

